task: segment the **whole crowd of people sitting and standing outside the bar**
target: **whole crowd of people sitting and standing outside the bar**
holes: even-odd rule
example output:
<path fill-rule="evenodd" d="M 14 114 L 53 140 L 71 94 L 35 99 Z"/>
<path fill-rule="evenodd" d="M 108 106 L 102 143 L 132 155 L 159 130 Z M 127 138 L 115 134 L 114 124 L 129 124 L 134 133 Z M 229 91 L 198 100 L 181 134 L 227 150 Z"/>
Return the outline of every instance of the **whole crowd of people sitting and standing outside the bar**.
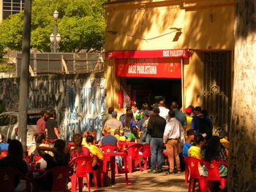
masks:
<path fill-rule="evenodd" d="M 147 150 L 151 155 L 151 169 L 148 173 L 163 172 L 164 150 L 169 161 L 166 174 L 181 172 L 182 159 L 186 156 L 203 158 L 206 161 L 227 161 L 227 132 L 222 130 L 219 136 L 213 136 L 211 118 L 201 107 L 189 106 L 183 113 L 176 101 L 171 103 L 170 109 L 165 106 L 165 101 L 159 101 L 152 107 L 144 103 L 140 110 L 133 104 L 120 117 L 110 107 L 108 113 L 102 117 L 102 127 L 102 138 L 99 141 L 94 128 L 83 134 L 73 135 L 74 146 L 70 152 L 70 146 L 60 138 L 55 110 L 42 111 L 41 118 L 37 121 L 37 133 L 34 134 L 36 144 L 29 148 L 28 155 L 36 161 L 37 168 L 45 170 L 67 165 L 72 158 L 80 155 L 93 155 L 92 166 L 97 170 L 103 160 L 100 150 L 102 145 L 116 145 L 121 150 L 119 142 L 140 142 L 150 149 Z M 23 147 L 18 140 L 13 139 L 10 144 L 6 144 L 0 134 L 0 147 L 1 150 L 8 150 L 8 154 L 0 159 L 0 166 L 11 166 L 23 174 L 28 174 L 28 165 L 23 160 Z M 119 166 L 122 165 L 120 157 L 117 156 L 116 161 Z M 198 169 L 201 175 L 207 176 L 205 166 L 198 166 Z M 222 177 L 227 177 L 227 166 L 221 164 L 219 172 Z M 17 180 L 15 186 L 19 187 L 18 185 Z M 50 185 L 50 181 L 47 185 L 42 182 L 40 187 L 48 190 Z"/>

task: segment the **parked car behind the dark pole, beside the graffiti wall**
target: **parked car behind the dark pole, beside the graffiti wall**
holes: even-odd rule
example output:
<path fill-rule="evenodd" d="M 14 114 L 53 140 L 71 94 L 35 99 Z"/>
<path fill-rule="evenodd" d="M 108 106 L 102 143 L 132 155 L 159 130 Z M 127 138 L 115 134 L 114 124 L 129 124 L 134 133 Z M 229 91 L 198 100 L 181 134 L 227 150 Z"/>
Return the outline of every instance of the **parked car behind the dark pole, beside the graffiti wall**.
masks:
<path fill-rule="evenodd" d="M 41 110 L 29 110 L 27 120 L 27 145 L 33 145 L 33 136 L 37 128 Z M 7 139 L 18 139 L 18 112 L 8 111 L 0 114 L 0 134 Z"/>

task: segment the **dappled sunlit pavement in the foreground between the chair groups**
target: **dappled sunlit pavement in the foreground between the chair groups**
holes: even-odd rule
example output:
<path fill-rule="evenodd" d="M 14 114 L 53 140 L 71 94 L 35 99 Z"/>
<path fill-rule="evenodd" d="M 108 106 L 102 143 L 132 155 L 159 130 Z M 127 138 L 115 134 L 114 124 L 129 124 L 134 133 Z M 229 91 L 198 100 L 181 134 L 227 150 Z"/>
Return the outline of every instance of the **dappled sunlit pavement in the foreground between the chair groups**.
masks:
<path fill-rule="evenodd" d="M 167 169 L 166 167 L 163 167 Z M 129 173 L 129 185 L 125 185 L 124 174 L 116 175 L 116 185 L 97 188 L 94 189 L 91 187 L 92 192 L 107 192 L 107 191 L 118 191 L 118 192 L 143 192 L 143 191 L 152 191 L 152 192 L 187 192 L 188 185 L 184 183 L 184 172 L 178 174 L 165 174 L 162 173 L 148 173 L 147 171 L 140 172 L 137 169 L 136 172 Z"/>

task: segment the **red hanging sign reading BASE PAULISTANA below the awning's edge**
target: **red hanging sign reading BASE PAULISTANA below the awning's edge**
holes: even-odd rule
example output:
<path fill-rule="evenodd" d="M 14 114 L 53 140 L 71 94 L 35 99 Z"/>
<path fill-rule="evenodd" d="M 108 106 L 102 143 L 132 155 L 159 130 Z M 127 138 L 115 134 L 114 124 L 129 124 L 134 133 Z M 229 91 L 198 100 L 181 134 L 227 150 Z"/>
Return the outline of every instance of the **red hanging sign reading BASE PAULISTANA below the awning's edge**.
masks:
<path fill-rule="evenodd" d="M 181 78 L 180 58 L 116 58 L 116 76 Z"/>

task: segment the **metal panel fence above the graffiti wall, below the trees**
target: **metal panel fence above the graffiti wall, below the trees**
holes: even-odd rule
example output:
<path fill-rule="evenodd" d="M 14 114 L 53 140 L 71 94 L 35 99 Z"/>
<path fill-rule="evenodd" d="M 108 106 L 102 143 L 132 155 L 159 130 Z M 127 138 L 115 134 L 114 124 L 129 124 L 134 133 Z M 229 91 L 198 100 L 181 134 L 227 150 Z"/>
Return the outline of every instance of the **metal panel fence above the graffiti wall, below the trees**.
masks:
<path fill-rule="evenodd" d="M 104 59 L 104 53 L 31 53 L 30 66 L 35 75 L 103 72 Z M 20 66 L 21 53 L 18 53 L 18 77 Z"/>

